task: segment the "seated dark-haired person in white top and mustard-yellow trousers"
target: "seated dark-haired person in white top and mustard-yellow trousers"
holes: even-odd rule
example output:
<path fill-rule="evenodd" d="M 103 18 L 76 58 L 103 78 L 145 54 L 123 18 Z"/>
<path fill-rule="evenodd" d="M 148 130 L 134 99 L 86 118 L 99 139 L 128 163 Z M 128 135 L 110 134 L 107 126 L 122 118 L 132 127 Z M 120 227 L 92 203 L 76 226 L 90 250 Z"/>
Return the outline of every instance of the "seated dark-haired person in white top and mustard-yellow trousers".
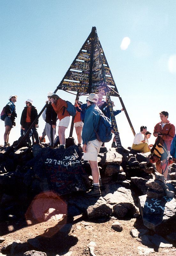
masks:
<path fill-rule="evenodd" d="M 148 144 L 145 141 L 145 133 L 147 132 L 147 127 L 146 126 L 141 126 L 140 127 L 140 132 L 136 133 L 134 136 L 134 141 L 132 145 L 132 149 L 141 151 L 142 153 L 147 153 L 149 152 Z"/>

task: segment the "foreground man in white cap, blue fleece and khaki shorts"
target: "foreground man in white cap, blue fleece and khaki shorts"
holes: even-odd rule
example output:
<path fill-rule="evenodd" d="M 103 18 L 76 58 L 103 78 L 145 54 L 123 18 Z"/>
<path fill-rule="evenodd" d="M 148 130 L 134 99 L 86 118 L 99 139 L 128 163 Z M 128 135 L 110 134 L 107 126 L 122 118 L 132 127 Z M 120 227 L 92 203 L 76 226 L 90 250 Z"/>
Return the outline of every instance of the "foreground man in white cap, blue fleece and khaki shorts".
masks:
<path fill-rule="evenodd" d="M 87 196 L 101 196 L 99 188 L 100 172 L 97 164 L 97 156 L 100 151 L 102 142 L 97 140 L 96 132 L 98 130 L 100 114 L 97 106 L 98 96 L 95 93 L 90 93 L 87 98 L 87 110 L 82 129 L 82 141 L 84 160 L 89 161 L 92 170 L 93 188 L 87 193 Z"/>

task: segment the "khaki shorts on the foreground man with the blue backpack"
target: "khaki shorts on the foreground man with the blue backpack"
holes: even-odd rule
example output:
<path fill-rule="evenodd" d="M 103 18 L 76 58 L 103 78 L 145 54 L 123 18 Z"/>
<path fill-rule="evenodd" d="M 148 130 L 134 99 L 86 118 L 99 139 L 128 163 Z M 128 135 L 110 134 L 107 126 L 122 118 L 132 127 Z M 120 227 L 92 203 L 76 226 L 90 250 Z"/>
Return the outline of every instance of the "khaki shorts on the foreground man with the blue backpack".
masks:
<path fill-rule="evenodd" d="M 97 161 L 102 142 L 99 140 L 88 141 L 87 153 L 84 153 L 84 161 Z"/>

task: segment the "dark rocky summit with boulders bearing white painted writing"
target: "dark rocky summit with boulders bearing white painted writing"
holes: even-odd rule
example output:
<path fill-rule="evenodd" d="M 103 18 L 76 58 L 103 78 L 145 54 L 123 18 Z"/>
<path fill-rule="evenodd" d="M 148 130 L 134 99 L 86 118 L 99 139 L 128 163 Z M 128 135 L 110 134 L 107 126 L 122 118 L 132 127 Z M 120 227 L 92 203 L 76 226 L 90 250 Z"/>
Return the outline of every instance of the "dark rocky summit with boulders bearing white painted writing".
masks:
<path fill-rule="evenodd" d="M 1 237 L 1 250 L 13 254 L 22 251 L 24 255 L 45 255 L 41 250 L 45 248 L 47 251 L 49 237 L 52 236 L 49 244 L 53 249 L 53 239 L 68 237 L 76 216 L 91 221 L 114 218 L 116 221 L 110 227 L 113 232 L 123 230 L 120 220 L 142 218 L 146 231 L 134 227 L 129 234 L 142 244 L 154 246 L 152 236 L 156 238 L 154 234 L 157 233 L 163 236 L 160 240 L 171 247 L 171 243 L 175 243 L 176 165 L 170 166 L 170 180 L 165 181 L 164 176 L 156 171 L 156 165 L 149 162 L 149 156 L 149 153 L 131 149 L 126 149 L 121 155 L 115 148 L 107 150 L 102 147 L 98 155 L 101 196 L 87 198 L 92 176 L 88 161 L 83 161 L 80 147 L 52 149 L 46 143 L 5 149 L 0 146 L 0 222 L 6 223 L 0 229 L 0 236 L 8 234 L 9 223 L 14 220 L 18 223 L 25 219 L 32 224 L 57 222 L 54 233 L 44 232 L 45 238 L 38 235 L 28 239 L 27 244 L 13 241 L 14 244 L 8 245 Z M 15 228 L 18 229 L 18 225 Z M 77 228 L 81 229 L 81 226 Z M 77 238 L 73 240 L 76 243 Z M 88 252 L 93 255 L 94 250 L 89 247 Z"/>

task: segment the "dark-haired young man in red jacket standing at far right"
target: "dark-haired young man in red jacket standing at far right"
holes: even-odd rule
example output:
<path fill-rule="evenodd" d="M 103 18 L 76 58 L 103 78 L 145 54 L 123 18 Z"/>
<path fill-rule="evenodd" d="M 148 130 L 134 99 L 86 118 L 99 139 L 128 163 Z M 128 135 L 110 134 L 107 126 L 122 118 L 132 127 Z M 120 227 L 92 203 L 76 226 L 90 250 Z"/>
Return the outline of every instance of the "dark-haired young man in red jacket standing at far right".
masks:
<path fill-rule="evenodd" d="M 173 137 L 175 136 L 175 126 L 169 122 L 168 116 L 169 114 L 167 111 L 162 111 L 160 113 L 161 122 L 155 125 L 154 132 L 153 132 L 153 135 L 155 137 L 161 138 L 160 143 L 166 147 L 168 151 L 167 159 L 169 159 L 170 157 L 171 142 L 173 140 Z M 162 161 L 162 165 L 164 165 L 165 163 L 167 164 L 167 159 Z M 161 168 L 162 165 L 161 165 L 161 161 L 158 161 L 156 163 L 157 171 L 159 173 L 162 173 L 162 168 Z M 163 173 L 163 175 L 165 176 L 165 180 L 167 180 L 167 174 L 168 174 L 168 168 L 166 168 L 165 172 Z"/>

